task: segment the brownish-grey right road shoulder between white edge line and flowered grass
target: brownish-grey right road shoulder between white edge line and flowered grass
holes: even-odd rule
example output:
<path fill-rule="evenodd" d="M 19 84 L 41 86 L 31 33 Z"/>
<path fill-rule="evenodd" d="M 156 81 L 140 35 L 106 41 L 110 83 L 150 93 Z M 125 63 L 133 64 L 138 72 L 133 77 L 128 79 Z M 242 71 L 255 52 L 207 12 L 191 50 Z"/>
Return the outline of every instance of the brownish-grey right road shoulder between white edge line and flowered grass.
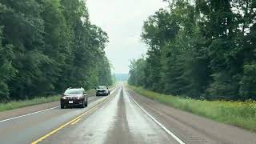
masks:
<path fill-rule="evenodd" d="M 145 110 L 186 143 L 256 143 L 254 132 L 166 106 L 127 89 Z"/>

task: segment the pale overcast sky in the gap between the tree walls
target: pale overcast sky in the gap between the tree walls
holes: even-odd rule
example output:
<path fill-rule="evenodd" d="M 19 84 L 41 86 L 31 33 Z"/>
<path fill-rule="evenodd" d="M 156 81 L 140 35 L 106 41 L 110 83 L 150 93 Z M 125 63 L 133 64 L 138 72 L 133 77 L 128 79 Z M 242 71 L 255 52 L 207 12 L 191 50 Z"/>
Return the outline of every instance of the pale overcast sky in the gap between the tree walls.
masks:
<path fill-rule="evenodd" d="M 110 42 L 106 56 L 114 73 L 128 73 L 130 60 L 146 54 L 141 42 L 142 25 L 148 16 L 166 6 L 162 0 L 87 0 L 90 21 L 106 31 Z"/>

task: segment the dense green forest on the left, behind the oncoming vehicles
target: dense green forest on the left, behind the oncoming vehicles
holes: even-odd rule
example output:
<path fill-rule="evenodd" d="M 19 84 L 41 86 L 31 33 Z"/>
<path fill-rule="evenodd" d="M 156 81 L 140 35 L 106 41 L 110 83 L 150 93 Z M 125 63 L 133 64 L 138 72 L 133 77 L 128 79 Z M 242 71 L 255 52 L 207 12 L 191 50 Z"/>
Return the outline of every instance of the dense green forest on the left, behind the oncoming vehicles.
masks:
<path fill-rule="evenodd" d="M 112 82 L 108 36 L 81 0 L 0 1 L 0 102 Z"/>

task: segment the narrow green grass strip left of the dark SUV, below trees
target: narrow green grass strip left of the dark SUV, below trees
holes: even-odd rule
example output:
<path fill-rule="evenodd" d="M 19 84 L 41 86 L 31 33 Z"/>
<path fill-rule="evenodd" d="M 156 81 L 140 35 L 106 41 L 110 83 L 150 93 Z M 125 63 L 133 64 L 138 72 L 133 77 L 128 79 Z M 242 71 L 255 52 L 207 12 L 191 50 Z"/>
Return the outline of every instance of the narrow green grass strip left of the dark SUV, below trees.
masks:
<path fill-rule="evenodd" d="M 59 100 L 59 98 L 60 98 L 59 95 L 54 95 L 50 97 L 34 98 L 30 100 L 0 103 L 0 112 L 6 111 L 6 110 L 14 110 L 14 109 L 18 109 L 26 106 L 34 106 L 34 105 L 47 103 L 47 102 L 56 102 Z"/>

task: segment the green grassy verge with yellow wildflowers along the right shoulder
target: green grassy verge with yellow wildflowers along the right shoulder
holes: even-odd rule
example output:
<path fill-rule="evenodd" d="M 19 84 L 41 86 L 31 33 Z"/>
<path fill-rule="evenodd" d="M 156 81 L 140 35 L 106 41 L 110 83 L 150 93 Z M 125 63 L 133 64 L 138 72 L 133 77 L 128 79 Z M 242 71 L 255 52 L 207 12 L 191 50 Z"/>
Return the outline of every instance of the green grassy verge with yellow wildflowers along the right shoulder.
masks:
<path fill-rule="evenodd" d="M 158 94 L 142 87 L 129 86 L 132 90 L 168 106 L 210 118 L 218 122 L 242 127 L 256 132 L 256 102 L 207 101 Z"/>

